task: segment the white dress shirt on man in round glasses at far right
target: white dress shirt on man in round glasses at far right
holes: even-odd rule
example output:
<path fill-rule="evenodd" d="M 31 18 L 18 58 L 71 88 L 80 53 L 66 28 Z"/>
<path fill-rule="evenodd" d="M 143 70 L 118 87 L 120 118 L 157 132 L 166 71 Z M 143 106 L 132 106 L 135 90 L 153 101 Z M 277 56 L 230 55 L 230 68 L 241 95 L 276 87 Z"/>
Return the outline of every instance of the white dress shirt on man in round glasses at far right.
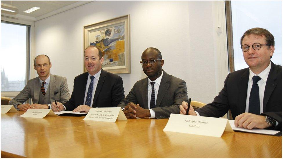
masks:
<path fill-rule="evenodd" d="M 260 72 L 260 74 L 255 74 L 250 70 L 250 75 L 248 78 L 248 89 L 247 89 L 247 98 L 246 98 L 246 110 L 245 112 L 248 112 L 248 103 L 250 99 L 250 94 L 251 94 L 251 89 L 253 85 L 253 76 L 260 76 L 261 80 L 257 82 L 259 93 L 260 93 L 260 113 L 263 113 L 263 97 L 264 97 L 264 90 L 265 90 L 265 85 L 267 81 L 268 74 L 271 69 L 271 62 L 269 63 L 268 67 Z M 197 116 L 200 116 L 197 110 L 195 111 Z"/>

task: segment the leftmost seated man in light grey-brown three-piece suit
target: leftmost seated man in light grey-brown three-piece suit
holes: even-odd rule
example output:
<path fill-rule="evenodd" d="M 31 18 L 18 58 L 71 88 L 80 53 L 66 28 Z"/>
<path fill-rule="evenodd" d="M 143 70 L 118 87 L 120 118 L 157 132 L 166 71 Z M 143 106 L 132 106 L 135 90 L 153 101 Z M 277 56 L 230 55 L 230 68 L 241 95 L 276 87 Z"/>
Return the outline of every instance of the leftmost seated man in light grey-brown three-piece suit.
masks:
<path fill-rule="evenodd" d="M 10 101 L 10 105 L 21 111 L 28 109 L 51 109 L 51 103 L 55 100 L 66 102 L 70 98 L 67 79 L 65 77 L 50 74 L 51 62 L 48 56 L 35 57 L 34 69 L 39 77 L 28 81 L 26 87 Z M 26 103 L 32 98 L 32 105 Z"/>

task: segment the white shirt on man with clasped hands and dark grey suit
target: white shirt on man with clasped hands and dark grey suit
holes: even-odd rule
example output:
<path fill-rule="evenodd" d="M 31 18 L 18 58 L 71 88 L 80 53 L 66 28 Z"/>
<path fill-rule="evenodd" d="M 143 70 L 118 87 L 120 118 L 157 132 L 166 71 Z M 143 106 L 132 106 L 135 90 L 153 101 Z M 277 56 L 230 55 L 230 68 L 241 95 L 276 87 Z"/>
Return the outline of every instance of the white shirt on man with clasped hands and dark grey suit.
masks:
<path fill-rule="evenodd" d="M 163 76 L 163 71 L 162 74 L 154 81 L 151 81 L 148 78 L 148 84 L 147 84 L 147 102 L 148 102 L 148 109 L 150 111 L 150 118 L 155 118 L 155 112 L 153 109 L 150 109 L 150 99 L 151 99 L 151 84 L 150 82 L 155 82 L 154 84 L 154 97 L 155 97 L 155 104 L 156 104 L 156 98 L 157 98 L 157 94 L 158 94 L 158 90 L 159 90 L 159 86 L 160 86 L 160 82 Z"/>

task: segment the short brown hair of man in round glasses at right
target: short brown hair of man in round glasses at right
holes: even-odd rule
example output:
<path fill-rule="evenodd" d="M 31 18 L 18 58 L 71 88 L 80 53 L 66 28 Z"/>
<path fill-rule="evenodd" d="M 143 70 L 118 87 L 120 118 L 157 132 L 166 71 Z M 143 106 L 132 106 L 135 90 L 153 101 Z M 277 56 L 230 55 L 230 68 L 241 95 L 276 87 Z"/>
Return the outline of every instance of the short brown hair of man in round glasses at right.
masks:
<path fill-rule="evenodd" d="M 259 35 L 259 36 L 265 36 L 265 41 L 266 41 L 266 45 L 268 48 L 270 48 L 270 46 L 274 46 L 274 36 L 266 29 L 264 28 L 251 28 L 249 30 L 247 30 L 243 36 L 241 37 L 241 47 L 242 47 L 242 42 L 243 39 L 246 35 L 250 35 L 250 34 L 255 34 L 255 35 Z M 270 58 L 272 58 L 272 56 L 270 56 Z"/>

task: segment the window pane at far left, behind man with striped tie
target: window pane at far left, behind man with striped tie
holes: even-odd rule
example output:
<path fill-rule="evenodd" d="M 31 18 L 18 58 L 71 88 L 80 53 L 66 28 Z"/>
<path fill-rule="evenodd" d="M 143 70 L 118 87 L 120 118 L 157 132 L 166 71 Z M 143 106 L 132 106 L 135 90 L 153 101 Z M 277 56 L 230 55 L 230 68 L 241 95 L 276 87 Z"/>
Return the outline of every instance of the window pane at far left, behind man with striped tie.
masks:
<path fill-rule="evenodd" d="M 1 22 L 1 92 L 26 85 L 27 26 Z"/>

